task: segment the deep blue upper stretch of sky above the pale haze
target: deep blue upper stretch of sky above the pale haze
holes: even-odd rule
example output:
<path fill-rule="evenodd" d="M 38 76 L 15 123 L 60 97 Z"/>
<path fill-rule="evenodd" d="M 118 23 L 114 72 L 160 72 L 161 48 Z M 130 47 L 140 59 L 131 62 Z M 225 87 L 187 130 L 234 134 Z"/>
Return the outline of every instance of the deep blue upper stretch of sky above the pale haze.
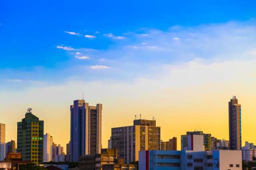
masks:
<path fill-rule="evenodd" d="M 255 1 L 5 1 L 0 12 L 0 68 L 43 66 L 69 61 L 65 44 L 74 48 L 109 49 L 117 44 L 102 34 L 121 36 L 141 28 L 168 30 L 250 20 Z M 65 31 L 94 35 L 70 36 Z M 95 31 L 101 34 L 95 34 Z M 141 31 L 143 32 L 143 31 Z"/>

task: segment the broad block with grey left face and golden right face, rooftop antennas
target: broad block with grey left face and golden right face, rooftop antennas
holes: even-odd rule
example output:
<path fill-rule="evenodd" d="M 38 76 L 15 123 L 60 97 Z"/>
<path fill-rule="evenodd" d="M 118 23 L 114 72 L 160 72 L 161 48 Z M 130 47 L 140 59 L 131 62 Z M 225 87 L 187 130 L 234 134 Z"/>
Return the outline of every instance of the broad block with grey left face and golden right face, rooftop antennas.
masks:
<path fill-rule="evenodd" d="M 126 164 L 139 160 L 140 150 L 160 150 L 160 127 L 155 120 L 139 119 L 133 126 L 111 129 L 112 148 Z"/>

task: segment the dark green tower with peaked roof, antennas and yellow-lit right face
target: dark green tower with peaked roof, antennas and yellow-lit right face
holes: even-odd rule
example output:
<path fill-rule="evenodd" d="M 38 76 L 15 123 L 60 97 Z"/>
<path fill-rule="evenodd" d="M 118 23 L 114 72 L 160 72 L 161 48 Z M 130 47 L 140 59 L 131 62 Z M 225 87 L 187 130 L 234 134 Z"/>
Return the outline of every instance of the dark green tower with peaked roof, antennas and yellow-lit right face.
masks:
<path fill-rule="evenodd" d="M 44 121 L 39 121 L 31 110 L 17 123 L 17 152 L 22 154 L 22 160 L 38 164 L 43 162 Z"/>

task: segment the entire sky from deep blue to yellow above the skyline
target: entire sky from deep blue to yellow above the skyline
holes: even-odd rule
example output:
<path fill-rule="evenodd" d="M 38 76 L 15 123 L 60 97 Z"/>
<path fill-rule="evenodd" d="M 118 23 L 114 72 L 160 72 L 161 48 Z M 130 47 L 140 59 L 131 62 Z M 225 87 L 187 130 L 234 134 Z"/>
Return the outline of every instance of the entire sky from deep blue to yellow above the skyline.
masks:
<path fill-rule="evenodd" d="M 228 101 L 242 105 L 242 144 L 256 143 L 256 1 L 5 1 L 0 6 L 0 123 L 6 141 L 26 109 L 57 144 L 70 105 L 103 104 L 102 145 L 135 115 L 162 140 L 203 130 L 228 140 Z"/>

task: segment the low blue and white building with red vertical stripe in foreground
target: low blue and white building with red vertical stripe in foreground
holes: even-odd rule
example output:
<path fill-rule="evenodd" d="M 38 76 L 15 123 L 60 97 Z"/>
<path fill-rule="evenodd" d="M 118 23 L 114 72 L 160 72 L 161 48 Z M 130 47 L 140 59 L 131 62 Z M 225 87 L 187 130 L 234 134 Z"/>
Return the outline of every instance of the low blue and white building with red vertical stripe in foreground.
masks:
<path fill-rule="evenodd" d="M 239 150 L 145 150 L 139 170 L 242 170 L 241 156 Z"/>

